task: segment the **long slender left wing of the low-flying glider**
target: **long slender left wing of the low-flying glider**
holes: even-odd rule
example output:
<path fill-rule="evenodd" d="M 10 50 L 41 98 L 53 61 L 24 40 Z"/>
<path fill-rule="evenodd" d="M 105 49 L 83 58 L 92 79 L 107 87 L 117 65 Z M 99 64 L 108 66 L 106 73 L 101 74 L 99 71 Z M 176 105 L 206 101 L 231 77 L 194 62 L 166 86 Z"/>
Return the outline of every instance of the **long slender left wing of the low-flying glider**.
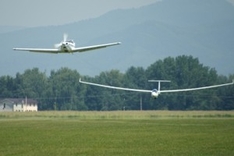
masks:
<path fill-rule="evenodd" d="M 145 93 L 151 93 L 151 90 L 143 90 L 143 89 L 131 89 L 131 88 L 123 88 L 123 87 L 114 87 L 114 86 L 108 86 L 108 85 L 102 85 L 97 83 L 91 83 L 91 82 L 85 82 L 81 81 L 81 78 L 79 79 L 80 83 L 98 86 L 98 87 L 104 87 L 104 88 L 110 88 L 110 89 L 118 89 L 118 90 L 125 90 L 125 91 L 134 91 L 134 92 L 145 92 Z"/>

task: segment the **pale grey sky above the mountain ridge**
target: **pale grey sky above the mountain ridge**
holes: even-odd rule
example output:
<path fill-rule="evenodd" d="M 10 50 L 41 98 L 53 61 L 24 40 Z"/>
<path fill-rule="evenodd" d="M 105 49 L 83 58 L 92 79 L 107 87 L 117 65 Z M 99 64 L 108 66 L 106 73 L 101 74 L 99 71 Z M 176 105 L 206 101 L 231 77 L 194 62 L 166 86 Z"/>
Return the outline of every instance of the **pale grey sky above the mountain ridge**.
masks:
<path fill-rule="evenodd" d="M 1 0 L 0 26 L 63 25 L 160 0 Z"/>

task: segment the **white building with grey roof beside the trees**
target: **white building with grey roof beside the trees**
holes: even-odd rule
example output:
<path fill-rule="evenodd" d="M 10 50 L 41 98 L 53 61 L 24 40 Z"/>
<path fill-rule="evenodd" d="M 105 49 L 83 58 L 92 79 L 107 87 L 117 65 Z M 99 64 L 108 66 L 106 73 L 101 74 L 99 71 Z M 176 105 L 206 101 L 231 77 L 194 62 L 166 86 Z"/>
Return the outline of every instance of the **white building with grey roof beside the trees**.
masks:
<path fill-rule="evenodd" d="M 0 99 L 0 112 L 33 112 L 38 111 L 37 101 L 33 99 L 5 98 Z"/>

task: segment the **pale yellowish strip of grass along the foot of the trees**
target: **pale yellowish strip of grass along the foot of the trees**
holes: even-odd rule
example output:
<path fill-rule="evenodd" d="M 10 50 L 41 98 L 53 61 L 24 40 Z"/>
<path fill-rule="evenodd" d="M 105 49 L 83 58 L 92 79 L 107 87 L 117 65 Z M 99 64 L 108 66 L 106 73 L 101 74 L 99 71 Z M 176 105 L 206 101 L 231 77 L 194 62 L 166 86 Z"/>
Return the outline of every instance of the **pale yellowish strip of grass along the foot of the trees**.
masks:
<path fill-rule="evenodd" d="M 234 111 L 41 111 L 1 112 L 0 119 L 158 119 L 158 118 L 234 118 Z"/>

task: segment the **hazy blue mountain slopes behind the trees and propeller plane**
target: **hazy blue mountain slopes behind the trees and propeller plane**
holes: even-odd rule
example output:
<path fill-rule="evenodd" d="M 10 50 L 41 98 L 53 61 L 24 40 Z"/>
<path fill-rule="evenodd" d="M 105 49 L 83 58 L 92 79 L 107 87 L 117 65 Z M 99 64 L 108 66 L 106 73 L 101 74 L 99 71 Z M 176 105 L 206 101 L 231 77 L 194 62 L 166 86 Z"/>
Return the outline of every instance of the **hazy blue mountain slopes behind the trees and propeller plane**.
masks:
<path fill-rule="evenodd" d="M 1 29 L 2 27 L 0 27 Z M 87 46 L 119 46 L 74 54 L 13 51 L 15 47 L 52 48 L 63 33 Z M 0 31 L 0 76 L 39 68 L 49 74 L 61 67 L 95 76 L 131 66 L 148 67 L 159 59 L 192 55 L 218 74 L 234 73 L 234 6 L 225 0 L 162 0 L 140 8 L 118 9 L 92 19 L 58 26 Z"/>

